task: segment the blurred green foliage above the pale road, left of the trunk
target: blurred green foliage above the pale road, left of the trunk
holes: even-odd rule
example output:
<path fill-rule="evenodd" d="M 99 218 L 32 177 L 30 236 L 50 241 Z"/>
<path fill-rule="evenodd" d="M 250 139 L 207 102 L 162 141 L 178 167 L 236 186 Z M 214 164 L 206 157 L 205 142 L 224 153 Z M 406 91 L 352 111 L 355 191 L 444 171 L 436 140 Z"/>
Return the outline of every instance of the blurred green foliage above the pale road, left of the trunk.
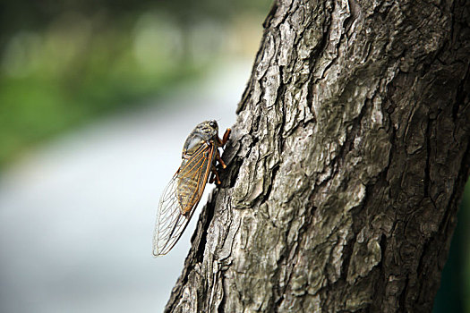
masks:
<path fill-rule="evenodd" d="M 269 3 L 2 2 L 0 169 L 31 145 L 197 77 L 223 53 L 230 23 L 265 15 Z"/>

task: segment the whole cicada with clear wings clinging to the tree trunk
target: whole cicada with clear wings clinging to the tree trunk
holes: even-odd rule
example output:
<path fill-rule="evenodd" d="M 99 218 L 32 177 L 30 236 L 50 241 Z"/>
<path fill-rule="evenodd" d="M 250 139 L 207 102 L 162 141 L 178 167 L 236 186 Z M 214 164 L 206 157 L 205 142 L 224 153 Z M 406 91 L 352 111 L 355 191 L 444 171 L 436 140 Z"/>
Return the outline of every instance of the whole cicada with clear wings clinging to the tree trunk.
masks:
<path fill-rule="evenodd" d="M 158 204 L 157 223 L 153 237 L 153 255 L 168 253 L 175 246 L 190 221 L 202 197 L 206 183 L 220 184 L 216 163 L 226 168 L 218 153 L 230 135 L 227 129 L 223 139 L 218 137 L 218 123 L 198 124 L 184 142 L 180 168 L 163 191 Z M 210 177 L 209 177 L 210 176 Z"/>

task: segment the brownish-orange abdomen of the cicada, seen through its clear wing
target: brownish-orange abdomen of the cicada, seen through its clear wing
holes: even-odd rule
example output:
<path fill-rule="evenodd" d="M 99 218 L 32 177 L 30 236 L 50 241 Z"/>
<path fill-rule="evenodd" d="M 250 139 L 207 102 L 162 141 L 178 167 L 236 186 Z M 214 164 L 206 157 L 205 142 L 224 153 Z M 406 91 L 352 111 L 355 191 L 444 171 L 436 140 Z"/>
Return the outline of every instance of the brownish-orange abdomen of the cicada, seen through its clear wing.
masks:
<path fill-rule="evenodd" d="M 190 137 L 186 143 L 176 188 L 178 204 L 184 216 L 187 216 L 201 199 L 217 154 L 214 140 Z"/>

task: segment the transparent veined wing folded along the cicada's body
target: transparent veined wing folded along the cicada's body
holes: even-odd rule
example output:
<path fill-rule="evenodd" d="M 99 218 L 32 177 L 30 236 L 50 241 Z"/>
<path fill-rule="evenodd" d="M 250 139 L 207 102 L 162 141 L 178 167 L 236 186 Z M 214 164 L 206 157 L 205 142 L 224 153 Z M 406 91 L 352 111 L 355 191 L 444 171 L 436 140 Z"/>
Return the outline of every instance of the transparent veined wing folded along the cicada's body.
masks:
<path fill-rule="evenodd" d="M 155 257 L 175 246 L 191 220 L 193 207 L 199 203 L 208 180 L 214 151 L 214 147 L 202 146 L 194 157 L 183 162 L 163 191 L 153 237 Z"/>

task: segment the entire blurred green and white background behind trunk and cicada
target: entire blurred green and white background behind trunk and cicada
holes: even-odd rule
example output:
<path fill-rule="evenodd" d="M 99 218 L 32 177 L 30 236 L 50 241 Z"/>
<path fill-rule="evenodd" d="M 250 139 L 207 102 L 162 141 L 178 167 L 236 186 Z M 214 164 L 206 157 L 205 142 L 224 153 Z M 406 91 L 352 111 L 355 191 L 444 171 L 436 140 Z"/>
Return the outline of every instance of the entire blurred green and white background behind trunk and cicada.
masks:
<path fill-rule="evenodd" d="M 202 206 L 152 258 L 159 195 L 235 122 L 270 2 L 0 3 L 1 312 L 163 310 Z M 469 194 L 435 312 L 470 312 Z"/>

